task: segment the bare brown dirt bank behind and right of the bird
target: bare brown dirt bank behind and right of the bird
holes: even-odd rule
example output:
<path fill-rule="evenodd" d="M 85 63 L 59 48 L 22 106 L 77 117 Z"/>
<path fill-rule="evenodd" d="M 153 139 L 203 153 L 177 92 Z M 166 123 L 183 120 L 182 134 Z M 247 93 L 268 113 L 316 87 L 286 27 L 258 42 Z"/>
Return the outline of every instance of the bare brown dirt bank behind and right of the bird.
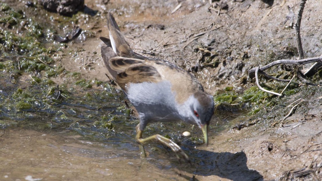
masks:
<path fill-rule="evenodd" d="M 288 6 L 297 13 L 299 0 L 221 0 L 213 1 L 212 5 L 198 0 L 179 2 L 181 7 L 171 13 L 177 1 L 85 0 L 93 10 L 114 14 L 134 51 L 166 59 L 192 71 L 210 94 L 227 86 L 243 91 L 255 85 L 247 71 L 269 63 L 271 52 L 275 53 L 275 60 L 298 57 L 297 51 L 295 54 L 288 51 L 296 50 L 295 30 L 289 28 L 290 20 L 284 21 L 289 14 Z M 322 54 L 321 6 L 321 1 L 308 1 L 304 9 L 301 38 L 305 57 Z M 103 18 L 105 15 L 101 14 Z M 85 78 L 106 81 L 100 58 L 103 43 L 99 40 L 99 36 L 108 36 L 106 22 L 90 19 L 78 25 L 92 31 L 94 36 L 72 44 L 73 50 L 84 49 L 77 57 L 60 54 L 55 60 L 71 72 L 81 72 Z M 201 66 L 204 57 L 198 48 L 216 52 L 218 63 Z M 64 81 L 64 77 L 55 80 L 59 81 Z M 260 122 L 241 130 L 228 127 L 210 138 L 208 147 L 198 149 L 208 151 L 209 157 L 216 156 L 216 164 L 207 167 L 209 174 L 197 175 L 195 179 L 322 180 L 321 96 L 303 97 L 307 111 L 295 111 L 285 120 L 284 128 L 261 126 L 263 122 Z M 295 97 L 290 97 L 289 103 Z M 220 161 L 227 157 L 231 161 Z"/>

